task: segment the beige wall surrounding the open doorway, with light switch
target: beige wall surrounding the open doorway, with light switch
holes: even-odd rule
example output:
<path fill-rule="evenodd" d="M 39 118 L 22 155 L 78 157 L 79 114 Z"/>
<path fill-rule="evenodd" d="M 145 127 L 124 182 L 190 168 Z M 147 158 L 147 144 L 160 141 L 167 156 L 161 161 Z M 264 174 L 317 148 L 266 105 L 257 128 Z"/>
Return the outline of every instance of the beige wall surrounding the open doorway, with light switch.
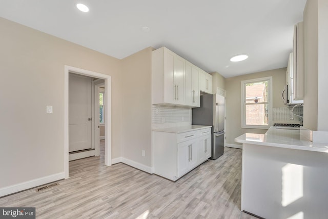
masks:
<path fill-rule="evenodd" d="M 0 27 L 0 188 L 64 171 L 64 65 L 112 76 L 112 157 L 121 156 L 119 59 L 3 18 Z"/>

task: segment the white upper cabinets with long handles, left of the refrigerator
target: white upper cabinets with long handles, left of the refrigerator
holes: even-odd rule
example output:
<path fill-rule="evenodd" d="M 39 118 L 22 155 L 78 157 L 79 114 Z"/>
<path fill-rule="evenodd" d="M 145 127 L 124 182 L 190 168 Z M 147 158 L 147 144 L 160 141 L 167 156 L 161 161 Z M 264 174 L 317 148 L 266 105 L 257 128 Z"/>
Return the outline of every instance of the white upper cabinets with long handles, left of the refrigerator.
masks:
<path fill-rule="evenodd" d="M 200 69 L 165 47 L 152 52 L 152 104 L 200 106 Z M 212 76 L 212 75 L 210 75 Z M 208 86 L 211 86 L 212 81 Z"/>

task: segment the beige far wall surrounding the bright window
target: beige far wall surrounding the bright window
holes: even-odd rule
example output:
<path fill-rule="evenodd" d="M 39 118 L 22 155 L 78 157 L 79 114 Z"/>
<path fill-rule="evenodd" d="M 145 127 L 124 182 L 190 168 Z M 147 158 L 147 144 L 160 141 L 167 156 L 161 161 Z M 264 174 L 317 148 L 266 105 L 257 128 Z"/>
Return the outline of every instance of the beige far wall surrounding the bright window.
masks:
<path fill-rule="evenodd" d="M 287 59 L 288 57 L 286 57 Z M 235 143 L 235 137 L 246 132 L 264 134 L 267 129 L 241 128 L 241 81 L 260 77 L 273 77 L 273 107 L 283 107 L 281 92 L 286 84 L 286 68 L 226 78 L 226 143 Z"/>

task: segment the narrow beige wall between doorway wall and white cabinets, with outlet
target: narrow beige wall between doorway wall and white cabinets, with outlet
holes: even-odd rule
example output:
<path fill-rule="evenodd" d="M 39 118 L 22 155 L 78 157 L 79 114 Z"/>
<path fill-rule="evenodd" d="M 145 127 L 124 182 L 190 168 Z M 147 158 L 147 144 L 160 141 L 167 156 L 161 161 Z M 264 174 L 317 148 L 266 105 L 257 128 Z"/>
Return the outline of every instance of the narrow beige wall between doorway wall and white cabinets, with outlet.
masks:
<path fill-rule="evenodd" d="M 151 167 L 152 48 L 122 59 L 122 156 Z M 141 156 L 145 150 L 145 156 Z"/>

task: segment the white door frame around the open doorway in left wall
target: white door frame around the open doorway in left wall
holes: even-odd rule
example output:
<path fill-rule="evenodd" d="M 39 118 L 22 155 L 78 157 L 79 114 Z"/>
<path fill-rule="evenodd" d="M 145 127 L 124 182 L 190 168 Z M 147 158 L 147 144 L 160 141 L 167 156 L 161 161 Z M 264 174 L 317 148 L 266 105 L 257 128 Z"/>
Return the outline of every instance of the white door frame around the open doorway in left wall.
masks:
<path fill-rule="evenodd" d="M 68 92 L 69 92 L 69 73 L 75 73 L 80 75 L 85 75 L 89 77 L 95 77 L 105 80 L 105 165 L 112 165 L 112 116 L 111 116 L 111 86 L 112 77 L 107 74 L 101 74 L 85 69 L 80 69 L 72 66 L 65 65 L 64 67 L 64 173 L 65 178 L 69 178 L 69 102 L 68 102 Z"/>

